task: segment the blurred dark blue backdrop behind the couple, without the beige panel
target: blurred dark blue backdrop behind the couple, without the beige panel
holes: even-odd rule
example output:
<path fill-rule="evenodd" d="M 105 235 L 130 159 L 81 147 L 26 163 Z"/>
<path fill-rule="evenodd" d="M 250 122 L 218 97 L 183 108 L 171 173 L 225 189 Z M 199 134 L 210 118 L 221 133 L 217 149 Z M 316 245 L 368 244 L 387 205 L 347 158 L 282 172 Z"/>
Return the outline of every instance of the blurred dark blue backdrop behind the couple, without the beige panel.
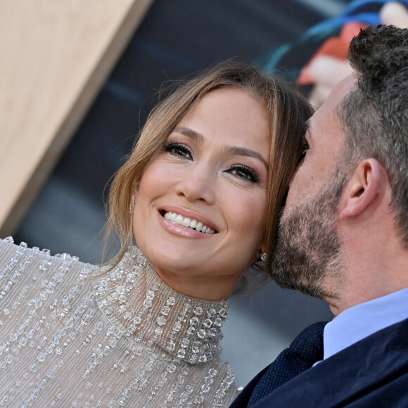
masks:
<path fill-rule="evenodd" d="M 356 30 L 355 16 L 362 15 L 358 26 L 378 23 L 385 3 L 355 1 L 350 8 L 345 0 L 152 1 L 68 148 L 14 228 L 15 241 L 101 262 L 106 186 L 158 102 L 163 82 L 241 58 L 298 81 L 318 106 L 331 82 L 348 72 L 345 49 Z M 321 63 L 320 57 L 330 67 L 333 58 L 338 64 L 336 78 L 336 69 L 317 64 L 329 71 L 324 84 L 314 81 L 311 65 L 313 58 Z M 115 248 L 109 255 L 114 253 Z M 247 298 L 231 299 L 222 356 L 238 385 L 245 385 L 305 326 L 331 318 L 325 302 L 271 283 Z"/>

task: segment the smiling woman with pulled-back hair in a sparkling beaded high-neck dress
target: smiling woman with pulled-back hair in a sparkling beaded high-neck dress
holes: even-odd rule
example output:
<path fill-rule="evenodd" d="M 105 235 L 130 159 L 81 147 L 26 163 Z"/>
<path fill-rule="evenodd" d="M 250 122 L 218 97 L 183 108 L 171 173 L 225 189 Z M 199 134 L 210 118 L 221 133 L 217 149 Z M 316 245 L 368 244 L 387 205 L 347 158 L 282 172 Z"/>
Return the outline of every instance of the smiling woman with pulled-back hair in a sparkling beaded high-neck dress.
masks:
<path fill-rule="evenodd" d="M 110 264 L 1 241 L 0 401 L 228 407 L 227 298 L 272 249 L 311 114 L 281 79 L 221 65 L 153 110 L 113 179 Z"/>

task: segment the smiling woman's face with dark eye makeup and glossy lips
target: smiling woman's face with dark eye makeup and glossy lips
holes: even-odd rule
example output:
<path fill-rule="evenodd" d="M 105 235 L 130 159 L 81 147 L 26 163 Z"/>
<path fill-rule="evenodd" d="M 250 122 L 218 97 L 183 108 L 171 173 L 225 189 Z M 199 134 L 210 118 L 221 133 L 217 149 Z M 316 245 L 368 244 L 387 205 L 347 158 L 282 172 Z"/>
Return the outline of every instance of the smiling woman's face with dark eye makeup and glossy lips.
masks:
<path fill-rule="evenodd" d="M 241 89 L 205 95 L 146 167 L 135 194 L 136 243 L 163 281 L 228 298 L 262 248 L 267 109 Z"/>

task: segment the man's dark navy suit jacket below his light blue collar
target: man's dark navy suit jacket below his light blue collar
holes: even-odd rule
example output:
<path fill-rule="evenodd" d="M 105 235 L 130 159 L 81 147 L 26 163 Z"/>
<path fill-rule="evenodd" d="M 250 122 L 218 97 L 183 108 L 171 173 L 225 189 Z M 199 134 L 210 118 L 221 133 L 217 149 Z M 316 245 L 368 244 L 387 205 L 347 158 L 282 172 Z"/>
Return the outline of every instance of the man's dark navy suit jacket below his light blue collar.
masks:
<path fill-rule="evenodd" d="M 246 402 L 238 396 L 234 407 Z M 408 319 L 303 371 L 253 405 L 266 407 L 408 407 Z"/>

